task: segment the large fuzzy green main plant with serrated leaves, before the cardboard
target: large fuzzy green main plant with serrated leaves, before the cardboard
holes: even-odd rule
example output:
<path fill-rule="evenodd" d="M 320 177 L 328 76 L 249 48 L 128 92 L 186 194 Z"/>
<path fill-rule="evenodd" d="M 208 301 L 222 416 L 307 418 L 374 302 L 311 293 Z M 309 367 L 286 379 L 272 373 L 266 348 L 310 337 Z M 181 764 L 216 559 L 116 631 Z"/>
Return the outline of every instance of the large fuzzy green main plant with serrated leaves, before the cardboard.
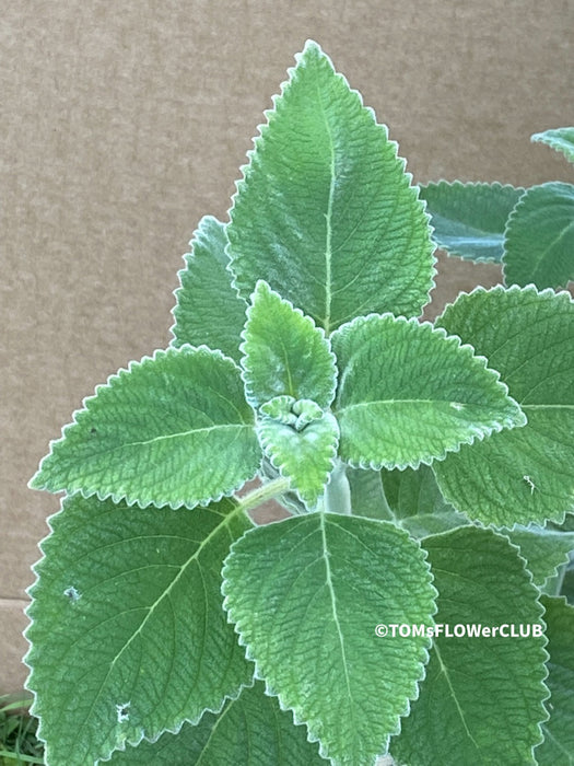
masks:
<path fill-rule="evenodd" d="M 433 236 L 307 43 L 169 348 L 32 479 L 65 492 L 26 634 L 48 765 L 573 763 L 574 302 L 477 288 L 423 322 Z"/>

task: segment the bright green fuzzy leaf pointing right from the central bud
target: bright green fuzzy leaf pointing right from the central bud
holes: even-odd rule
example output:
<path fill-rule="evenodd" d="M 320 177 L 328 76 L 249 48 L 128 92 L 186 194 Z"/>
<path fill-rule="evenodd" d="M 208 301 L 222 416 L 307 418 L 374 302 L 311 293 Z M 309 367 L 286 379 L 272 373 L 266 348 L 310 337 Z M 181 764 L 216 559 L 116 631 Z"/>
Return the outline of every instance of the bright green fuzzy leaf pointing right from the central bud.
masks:
<path fill-rule="evenodd" d="M 418 467 L 524 425 L 497 373 L 429 323 L 358 317 L 332 335 L 339 453 L 354 466 Z"/>

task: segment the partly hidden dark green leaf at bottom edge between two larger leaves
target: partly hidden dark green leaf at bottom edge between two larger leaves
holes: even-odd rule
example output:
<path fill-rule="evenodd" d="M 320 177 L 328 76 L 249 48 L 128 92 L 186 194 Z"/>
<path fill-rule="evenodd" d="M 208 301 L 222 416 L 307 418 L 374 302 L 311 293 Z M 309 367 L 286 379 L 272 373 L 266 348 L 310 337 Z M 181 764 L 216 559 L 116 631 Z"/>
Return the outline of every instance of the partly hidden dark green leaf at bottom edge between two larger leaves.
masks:
<path fill-rule="evenodd" d="M 230 699 L 219 713 L 206 712 L 197 726 L 185 723 L 175 735 L 116 752 L 112 766 L 321 766 L 317 745 L 307 741 L 304 727 L 293 726 L 274 697 L 256 683 Z"/>

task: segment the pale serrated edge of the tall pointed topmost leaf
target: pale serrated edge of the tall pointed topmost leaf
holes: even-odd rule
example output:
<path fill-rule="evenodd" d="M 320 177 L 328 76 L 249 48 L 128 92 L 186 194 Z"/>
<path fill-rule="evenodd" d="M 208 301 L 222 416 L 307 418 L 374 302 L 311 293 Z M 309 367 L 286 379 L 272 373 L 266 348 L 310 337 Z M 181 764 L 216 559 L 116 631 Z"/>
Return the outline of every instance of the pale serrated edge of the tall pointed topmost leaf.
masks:
<path fill-rule="evenodd" d="M 361 91 L 359 91 L 359 90 L 356 90 L 356 89 L 354 89 L 354 88 L 351 88 L 351 85 L 350 85 L 350 83 L 349 83 L 349 80 L 345 78 L 345 76 L 344 76 L 342 72 L 338 72 L 337 69 L 335 68 L 335 65 L 333 65 L 333 62 L 332 62 L 330 56 L 328 56 L 328 54 L 326 54 L 326 53 L 323 50 L 321 46 L 320 46 L 318 43 L 316 43 L 314 39 L 311 39 L 311 38 L 307 39 L 307 40 L 305 42 L 305 46 L 304 46 L 303 50 L 300 51 L 300 53 L 297 53 L 297 54 L 295 54 L 295 56 L 294 56 L 294 58 L 295 58 L 295 66 L 294 66 L 294 67 L 289 67 L 289 68 L 288 68 L 288 70 L 286 70 L 286 76 L 288 76 L 288 78 L 286 78 L 286 80 L 283 80 L 283 82 L 281 82 L 281 84 L 280 84 L 280 86 L 279 86 L 279 93 L 276 93 L 276 94 L 273 94 L 273 95 L 271 96 L 272 107 L 271 107 L 270 109 L 265 109 L 265 112 L 263 112 L 263 118 L 265 118 L 266 121 L 265 121 L 265 123 L 259 123 L 259 124 L 256 126 L 256 134 L 255 134 L 255 136 L 251 138 L 251 143 L 254 144 L 254 146 L 253 146 L 253 149 L 249 149 L 249 150 L 247 151 L 247 153 L 246 153 L 247 162 L 239 166 L 241 177 L 235 182 L 235 192 L 234 192 L 234 194 L 232 195 L 232 198 L 231 198 L 231 206 L 230 206 L 230 208 L 227 209 L 227 218 L 229 218 L 229 220 L 231 221 L 232 218 L 233 218 L 233 211 L 234 211 L 234 209 L 235 209 L 235 200 L 236 200 L 236 198 L 238 197 L 238 195 L 239 195 L 239 193 L 241 193 L 241 190 L 242 190 L 244 184 L 245 184 L 246 181 L 247 181 L 247 175 L 248 175 L 249 170 L 250 170 L 250 166 L 251 166 L 251 160 L 253 160 L 253 158 L 255 156 L 255 153 L 256 153 L 256 151 L 257 151 L 259 144 L 262 143 L 262 142 L 266 140 L 266 134 L 267 134 L 267 130 L 268 130 L 268 128 L 269 128 L 270 118 L 272 117 L 272 115 L 276 113 L 276 109 L 277 109 L 277 102 L 278 102 L 278 100 L 280 100 L 280 98 L 283 97 L 283 95 L 284 95 L 286 89 L 291 85 L 291 82 L 292 82 L 292 79 L 293 79 L 293 74 L 294 74 L 294 72 L 296 71 L 297 66 L 300 65 L 301 60 L 303 59 L 303 57 L 305 56 L 306 51 L 307 51 L 309 48 L 315 48 L 315 49 L 318 51 L 318 54 L 319 54 L 321 57 L 325 58 L 325 60 L 326 60 L 326 61 L 328 62 L 328 65 L 330 66 L 332 72 L 335 73 L 335 76 L 336 76 L 337 78 L 339 78 L 339 80 L 342 81 L 342 82 L 345 84 L 345 86 L 349 89 L 349 91 L 350 91 L 351 93 L 353 93 L 353 95 L 355 95 L 355 96 L 359 98 L 359 103 L 361 104 L 361 107 L 362 107 L 363 109 L 365 109 L 365 111 L 371 115 L 371 117 L 372 117 L 373 121 L 375 123 L 375 125 L 383 129 L 387 142 L 388 142 L 389 146 L 393 147 L 393 149 L 394 149 L 396 159 L 397 159 L 397 160 L 401 163 L 401 165 L 402 165 L 402 171 L 403 171 L 403 173 L 405 173 L 406 179 L 408 181 L 409 188 L 411 188 L 411 189 L 413 190 L 415 200 L 418 200 L 418 201 L 422 205 L 423 214 L 424 214 L 425 218 L 426 218 L 426 225 L 427 225 L 427 229 L 429 229 L 429 235 L 430 235 L 431 239 L 432 239 L 432 234 L 433 234 L 433 232 L 434 232 L 434 228 L 433 228 L 433 225 L 432 225 L 432 223 L 431 223 L 431 218 L 432 218 L 432 217 L 431 217 L 431 214 L 429 213 L 429 211 L 427 211 L 427 209 L 426 209 L 426 200 L 424 200 L 424 199 L 421 198 L 421 196 L 420 196 L 420 186 L 413 182 L 412 173 L 410 173 L 410 172 L 407 171 L 407 160 L 406 160 L 403 156 L 401 156 L 401 155 L 399 154 L 399 144 L 398 144 L 398 142 L 395 141 L 394 139 L 389 138 L 387 125 L 385 125 L 384 123 L 378 123 L 378 121 L 377 121 L 376 114 L 375 114 L 375 111 L 373 109 L 373 107 L 371 107 L 371 106 L 365 106 L 364 100 L 363 100 L 363 94 L 361 93 Z M 434 240 L 432 240 L 432 242 L 433 242 L 433 245 L 435 245 Z M 420 312 L 419 316 L 422 316 L 422 315 L 423 315 L 424 307 L 431 302 L 431 293 L 432 293 L 432 291 L 434 290 L 434 288 L 436 287 L 436 283 L 435 283 L 435 280 L 434 280 L 434 277 L 437 275 L 437 269 L 436 269 L 436 267 L 435 267 L 435 264 L 436 264 L 436 256 L 435 256 L 435 254 L 434 254 L 435 249 L 436 249 L 436 246 L 433 247 L 433 249 L 431 251 L 431 254 L 430 254 L 430 255 L 431 255 L 430 286 L 429 286 L 429 289 L 427 289 L 427 291 L 426 291 L 426 302 L 423 303 L 423 305 L 421 306 L 421 312 Z M 238 283 L 237 283 L 237 275 L 236 275 L 236 272 L 235 272 L 235 270 L 234 270 L 234 262 L 237 260 L 237 258 L 234 258 L 234 257 L 232 256 L 232 253 L 231 253 L 231 243 L 227 243 L 227 245 L 226 245 L 226 247 L 225 247 L 225 252 L 226 252 L 227 257 L 229 257 L 227 269 L 229 269 L 229 270 L 231 271 L 231 274 L 232 274 L 232 287 L 236 290 L 237 294 L 238 294 L 239 297 L 242 297 L 242 291 L 239 290 L 239 286 L 238 286 Z M 342 324 L 344 324 L 344 323 L 341 323 L 338 327 L 342 326 Z"/>

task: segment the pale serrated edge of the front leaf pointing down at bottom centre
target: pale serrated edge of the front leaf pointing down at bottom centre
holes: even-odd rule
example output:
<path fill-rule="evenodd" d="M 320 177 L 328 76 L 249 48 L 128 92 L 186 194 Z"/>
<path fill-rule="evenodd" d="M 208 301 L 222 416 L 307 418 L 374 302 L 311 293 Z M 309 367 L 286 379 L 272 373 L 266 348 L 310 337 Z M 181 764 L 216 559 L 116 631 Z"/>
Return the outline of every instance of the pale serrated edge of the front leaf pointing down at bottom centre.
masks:
<path fill-rule="evenodd" d="M 323 512 L 323 511 L 321 511 L 321 512 Z M 296 518 L 296 517 L 291 517 L 291 519 L 293 519 L 293 518 Z M 376 524 L 383 524 L 383 525 L 386 525 L 386 526 L 393 526 L 393 527 L 395 527 L 396 530 L 398 530 L 400 533 L 402 533 L 409 542 L 414 543 L 414 545 L 419 548 L 419 552 L 420 552 L 421 555 L 422 555 L 421 558 L 422 558 L 422 560 L 423 560 L 423 562 L 424 562 L 424 565 L 425 565 L 425 567 L 426 567 L 426 573 L 427 573 L 427 576 L 429 576 L 427 583 L 429 583 L 429 585 L 430 585 L 430 587 L 433 589 L 433 591 L 434 591 L 434 611 L 433 611 L 432 614 L 430 615 L 431 617 L 434 617 L 434 615 L 436 615 L 436 613 L 438 612 L 438 608 L 437 608 L 437 606 L 436 606 L 436 597 L 437 597 L 437 595 L 438 595 L 438 591 L 436 590 L 435 585 L 433 584 L 433 583 L 434 583 L 434 576 L 433 576 L 433 572 L 432 572 L 431 565 L 429 564 L 429 560 L 427 560 L 427 559 L 429 559 L 429 554 L 427 554 L 427 552 L 422 547 L 420 541 L 414 539 L 413 537 L 411 537 L 411 536 L 409 535 L 409 533 L 408 533 L 406 530 L 403 530 L 401 526 L 398 526 L 398 525 L 394 524 L 394 523 L 390 522 L 390 521 L 384 521 L 384 520 L 379 520 L 379 519 L 366 519 L 366 518 L 364 518 L 364 517 L 356 517 L 356 518 L 358 518 L 358 519 L 362 519 L 363 521 L 372 521 L 372 522 L 374 522 L 374 523 L 376 523 Z M 270 523 L 271 523 L 271 524 L 282 524 L 282 523 L 284 523 L 285 521 L 289 521 L 289 520 L 290 520 L 290 519 L 281 519 L 281 520 L 278 520 L 278 521 L 272 521 L 272 522 L 270 522 Z M 258 529 L 258 527 L 254 527 L 254 529 L 251 529 L 251 530 L 247 530 L 241 537 L 238 537 L 236 541 L 233 542 L 233 544 L 230 546 L 230 553 L 227 554 L 227 556 L 225 557 L 225 560 L 223 561 L 223 568 L 222 568 L 222 571 L 221 571 L 221 574 L 222 574 L 221 593 L 222 593 L 222 595 L 223 595 L 223 611 L 224 611 L 224 612 L 226 613 L 226 615 L 227 615 L 227 623 L 231 623 L 231 624 L 233 625 L 233 628 L 234 628 L 235 632 L 237 634 L 237 640 L 238 640 L 238 642 L 239 642 L 239 646 L 242 646 L 242 647 L 245 648 L 245 657 L 246 657 L 246 659 L 249 660 L 250 662 L 253 662 L 253 663 L 255 664 L 254 678 L 257 680 L 257 681 L 262 681 L 262 682 L 265 683 L 265 693 L 266 693 L 269 697 L 277 697 L 277 700 L 278 700 L 278 703 L 279 703 L 279 707 L 281 708 L 281 710 L 283 710 L 284 712 L 290 711 L 290 712 L 292 713 L 292 716 L 293 716 L 293 722 L 294 722 L 295 726 L 304 726 L 304 727 L 307 729 L 307 741 L 311 742 L 311 743 L 317 742 L 317 743 L 319 744 L 319 755 L 320 755 L 323 758 L 325 758 L 326 761 L 328 761 L 330 764 L 332 764 L 332 766 L 338 766 L 338 762 L 337 762 L 335 758 L 332 758 L 331 756 L 328 755 L 327 751 L 325 750 L 325 745 L 324 745 L 323 742 L 320 741 L 319 736 L 316 735 L 316 734 L 314 734 L 314 733 L 312 733 L 312 732 L 309 731 L 306 721 L 304 721 L 302 718 L 300 718 L 300 717 L 296 715 L 294 708 L 292 708 L 291 706 L 285 705 L 285 704 L 283 703 L 283 700 L 281 699 L 280 694 L 276 694 L 276 693 L 270 688 L 267 678 L 265 677 L 265 675 L 262 674 L 262 672 L 261 672 L 261 670 L 260 670 L 259 663 L 258 663 L 257 660 L 253 657 L 253 651 L 251 651 L 250 645 L 247 643 L 246 641 L 244 641 L 244 639 L 243 639 L 243 636 L 242 636 L 242 632 L 241 632 L 239 623 L 238 623 L 238 622 L 235 622 L 235 620 L 232 618 L 231 608 L 229 608 L 229 604 L 227 604 L 227 597 L 229 597 L 229 596 L 227 596 L 227 593 L 225 593 L 225 585 L 226 585 L 226 583 L 227 583 L 227 580 L 226 580 L 226 577 L 225 577 L 225 569 L 226 569 L 226 567 L 227 567 L 227 558 L 232 555 L 233 548 L 235 547 L 235 545 L 237 545 L 237 544 L 239 543 L 239 541 L 242 541 L 242 539 L 245 537 L 245 535 L 250 534 L 251 532 L 254 532 L 255 529 Z M 397 716 L 396 730 L 395 730 L 395 731 L 389 731 L 389 733 L 387 734 L 387 740 L 386 740 L 386 743 L 384 744 L 384 753 L 383 753 L 383 752 L 382 752 L 382 753 L 377 753 L 377 754 L 373 757 L 373 761 L 371 762 L 371 764 L 368 764 L 368 765 L 366 765 L 366 766 L 375 766 L 375 762 L 377 761 L 377 758 L 380 757 L 380 755 L 384 755 L 384 754 L 388 753 L 388 748 L 389 748 L 389 744 L 390 744 L 390 739 L 391 739 L 391 736 L 396 736 L 397 734 L 400 734 L 400 731 L 401 731 L 401 719 L 402 719 L 402 718 L 406 718 L 406 717 L 408 717 L 408 716 L 410 715 L 411 704 L 414 703 L 417 699 L 419 699 L 419 695 L 420 695 L 420 685 L 421 685 L 421 683 L 422 683 L 422 682 L 425 680 L 425 677 L 426 677 L 426 668 L 427 668 L 427 665 L 429 665 L 430 650 L 431 650 L 431 648 L 432 648 L 432 645 L 430 645 L 427 648 L 423 648 L 424 661 L 421 661 L 421 662 L 418 663 L 418 664 L 419 664 L 419 669 L 420 669 L 420 677 L 419 677 L 417 681 L 413 682 L 413 695 L 412 695 L 411 697 L 409 697 L 408 699 L 405 700 L 405 712 L 398 713 L 398 716 Z"/>

